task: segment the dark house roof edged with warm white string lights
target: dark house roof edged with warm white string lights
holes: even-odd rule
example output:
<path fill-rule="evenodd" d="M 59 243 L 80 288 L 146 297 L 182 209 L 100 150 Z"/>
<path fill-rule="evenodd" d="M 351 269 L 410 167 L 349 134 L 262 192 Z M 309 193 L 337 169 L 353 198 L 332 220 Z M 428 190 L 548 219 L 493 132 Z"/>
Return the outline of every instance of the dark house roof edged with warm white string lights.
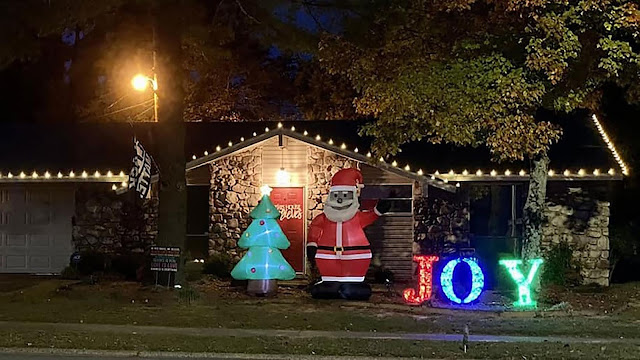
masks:
<path fill-rule="evenodd" d="M 619 180 L 626 165 L 596 118 L 561 119 L 564 135 L 550 151 L 549 180 Z M 485 148 L 454 147 L 417 142 L 384 162 L 366 156 L 370 138 L 357 135 L 364 121 L 187 123 L 185 151 L 188 167 L 224 156 L 277 134 L 294 137 L 358 161 L 416 180 L 527 181 L 525 162 L 496 163 Z M 0 124 L 0 179 L 33 171 L 44 174 L 127 172 L 134 134 L 151 153 L 159 146 L 154 123 Z M 266 131 L 266 128 L 269 131 Z M 292 128 L 294 130 L 292 130 Z M 254 135 L 255 134 L 255 135 Z M 217 151 L 217 149 L 220 149 Z M 357 152 L 355 151 L 357 148 Z M 206 153 L 205 153 L 206 152 Z M 205 155 L 206 154 L 206 155 Z M 195 156 L 195 160 L 194 160 Z M 408 170 L 406 170 L 408 169 Z M 465 172 L 466 170 L 466 172 Z M 477 172 L 480 170 L 480 172 Z M 524 170 L 523 175 L 521 170 Z M 582 170 L 582 171 L 581 171 Z M 480 174 L 480 175 L 476 175 Z M 565 175 L 566 174 L 566 175 Z M 14 176 L 13 181 L 17 178 Z"/>

